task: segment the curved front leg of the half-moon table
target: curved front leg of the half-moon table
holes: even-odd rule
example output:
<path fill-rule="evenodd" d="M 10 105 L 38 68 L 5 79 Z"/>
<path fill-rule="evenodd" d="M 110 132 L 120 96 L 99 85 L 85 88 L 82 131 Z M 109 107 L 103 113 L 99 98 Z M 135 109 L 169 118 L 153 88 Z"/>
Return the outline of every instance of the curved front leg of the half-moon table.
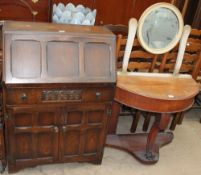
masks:
<path fill-rule="evenodd" d="M 145 157 L 148 160 L 154 160 L 155 155 L 154 155 L 154 145 L 156 142 L 156 138 L 158 135 L 158 132 L 160 130 L 165 130 L 168 126 L 168 123 L 170 121 L 170 114 L 161 114 L 161 116 L 156 117 L 155 118 L 155 122 L 148 134 L 148 138 L 147 138 L 147 145 L 146 145 L 146 153 L 145 153 Z"/>

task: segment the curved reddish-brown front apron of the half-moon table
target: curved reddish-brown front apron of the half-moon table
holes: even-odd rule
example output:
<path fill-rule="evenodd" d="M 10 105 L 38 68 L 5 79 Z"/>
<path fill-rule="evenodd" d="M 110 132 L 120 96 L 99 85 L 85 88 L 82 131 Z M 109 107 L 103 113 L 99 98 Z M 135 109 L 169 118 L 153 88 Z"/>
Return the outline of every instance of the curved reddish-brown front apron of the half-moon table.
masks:
<path fill-rule="evenodd" d="M 161 100 L 134 94 L 118 87 L 116 87 L 115 100 L 132 108 L 157 113 L 185 111 L 194 103 L 194 97 L 183 100 Z"/>

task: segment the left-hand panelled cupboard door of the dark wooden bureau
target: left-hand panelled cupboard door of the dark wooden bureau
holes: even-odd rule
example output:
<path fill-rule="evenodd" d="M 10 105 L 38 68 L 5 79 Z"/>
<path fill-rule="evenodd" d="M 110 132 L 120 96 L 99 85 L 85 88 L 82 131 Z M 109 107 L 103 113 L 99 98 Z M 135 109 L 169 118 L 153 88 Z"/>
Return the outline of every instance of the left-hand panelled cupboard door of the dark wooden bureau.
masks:
<path fill-rule="evenodd" d="M 35 165 L 58 158 L 56 109 L 15 108 L 7 120 L 9 162 Z"/>

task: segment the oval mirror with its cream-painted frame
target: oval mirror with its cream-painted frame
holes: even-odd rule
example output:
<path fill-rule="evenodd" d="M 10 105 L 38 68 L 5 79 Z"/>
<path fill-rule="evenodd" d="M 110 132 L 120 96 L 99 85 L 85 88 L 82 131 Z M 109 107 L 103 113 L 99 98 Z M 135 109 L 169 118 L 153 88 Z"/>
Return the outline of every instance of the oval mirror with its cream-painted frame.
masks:
<path fill-rule="evenodd" d="M 163 54 L 178 43 L 183 27 L 182 15 L 174 5 L 157 3 L 142 14 L 137 35 L 145 50 L 154 54 Z"/>

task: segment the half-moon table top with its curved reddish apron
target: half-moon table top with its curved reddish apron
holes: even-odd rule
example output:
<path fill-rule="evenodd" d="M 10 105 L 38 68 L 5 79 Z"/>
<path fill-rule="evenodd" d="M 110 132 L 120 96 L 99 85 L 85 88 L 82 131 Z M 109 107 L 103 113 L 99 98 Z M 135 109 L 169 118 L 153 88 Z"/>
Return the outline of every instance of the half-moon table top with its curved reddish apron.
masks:
<path fill-rule="evenodd" d="M 190 76 L 119 74 L 115 100 L 150 112 L 179 112 L 192 106 L 198 92 L 199 85 Z"/>

